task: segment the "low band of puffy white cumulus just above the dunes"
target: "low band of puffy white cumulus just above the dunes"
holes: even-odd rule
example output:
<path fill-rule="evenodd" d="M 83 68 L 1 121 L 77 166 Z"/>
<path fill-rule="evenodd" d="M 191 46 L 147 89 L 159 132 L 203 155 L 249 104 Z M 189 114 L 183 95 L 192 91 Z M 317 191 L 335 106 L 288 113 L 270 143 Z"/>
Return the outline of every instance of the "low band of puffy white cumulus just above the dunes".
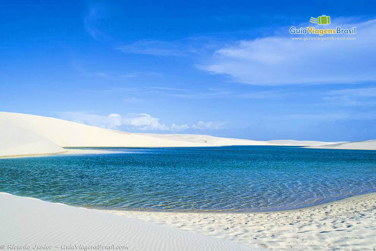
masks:
<path fill-rule="evenodd" d="M 188 124 L 177 125 L 172 123 L 166 125 L 159 122 L 156 117 L 150 116 L 147 113 L 128 113 L 125 116 L 121 116 L 117 113 L 111 113 L 108 116 L 77 113 L 77 112 L 65 112 L 60 114 L 62 119 L 68 119 L 73 122 L 82 123 L 86 125 L 98 126 L 109 129 L 128 129 L 139 131 L 171 131 L 180 132 L 186 129 L 223 129 L 221 126 L 223 122 L 203 122 L 199 121 L 197 124 L 189 126 Z"/>

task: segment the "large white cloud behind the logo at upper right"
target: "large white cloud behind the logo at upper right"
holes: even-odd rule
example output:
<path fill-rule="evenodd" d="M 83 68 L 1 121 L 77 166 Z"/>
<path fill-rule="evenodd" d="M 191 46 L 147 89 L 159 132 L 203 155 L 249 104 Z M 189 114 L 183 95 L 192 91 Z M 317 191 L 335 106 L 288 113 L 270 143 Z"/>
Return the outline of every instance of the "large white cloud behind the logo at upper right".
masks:
<path fill-rule="evenodd" d="M 355 35 L 345 35 L 356 40 L 296 41 L 291 37 L 314 36 L 292 35 L 286 27 L 284 35 L 242 40 L 219 49 L 208 64 L 198 68 L 254 85 L 375 81 L 376 19 L 362 23 L 337 19 L 326 28 L 336 26 L 356 26 Z"/>

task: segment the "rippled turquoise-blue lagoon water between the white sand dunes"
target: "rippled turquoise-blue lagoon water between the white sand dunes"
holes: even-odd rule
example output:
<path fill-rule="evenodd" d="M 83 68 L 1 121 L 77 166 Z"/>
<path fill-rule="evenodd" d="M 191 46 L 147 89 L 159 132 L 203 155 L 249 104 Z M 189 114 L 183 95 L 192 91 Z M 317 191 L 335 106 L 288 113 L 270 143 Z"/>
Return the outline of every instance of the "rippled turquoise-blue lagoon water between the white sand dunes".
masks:
<path fill-rule="evenodd" d="M 376 151 L 138 148 L 0 160 L 0 191 L 88 208 L 271 211 L 376 190 Z M 113 150 L 115 151 L 115 150 Z"/>

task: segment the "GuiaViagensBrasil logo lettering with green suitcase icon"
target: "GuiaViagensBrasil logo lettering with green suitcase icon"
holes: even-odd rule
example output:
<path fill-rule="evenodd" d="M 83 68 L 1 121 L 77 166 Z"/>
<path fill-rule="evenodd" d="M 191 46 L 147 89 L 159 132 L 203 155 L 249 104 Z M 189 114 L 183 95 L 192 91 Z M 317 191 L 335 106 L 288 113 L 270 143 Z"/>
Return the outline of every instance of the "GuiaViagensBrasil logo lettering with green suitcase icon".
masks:
<path fill-rule="evenodd" d="M 330 24 L 331 18 L 326 15 L 322 15 L 321 17 L 311 17 L 309 20 L 311 23 L 314 24 Z M 295 26 L 290 28 L 291 34 L 312 34 L 312 35 L 329 35 L 329 34 L 356 34 L 356 27 L 352 27 L 351 29 L 342 29 L 341 27 L 335 27 L 335 29 L 316 29 L 315 27 L 307 27 L 303 29 L 303 27 L 296 28 Z"/>

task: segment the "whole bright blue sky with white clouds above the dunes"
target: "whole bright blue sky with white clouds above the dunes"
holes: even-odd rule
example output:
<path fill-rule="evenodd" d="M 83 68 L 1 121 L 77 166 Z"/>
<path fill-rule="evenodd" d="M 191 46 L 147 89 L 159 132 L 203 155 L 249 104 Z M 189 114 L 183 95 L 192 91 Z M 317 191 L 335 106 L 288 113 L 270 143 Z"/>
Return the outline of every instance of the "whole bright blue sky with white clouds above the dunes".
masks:
<path fill-rule="evenodd" d="M 136 132 L 376 138 L 376 4 L 0 4 L 0 110 Z M 319 27 L 311 17 L 329 15 Z M 291 26 L 352 41 L 292 41 Z M 335 36 L 339 37 L 339 36 Z"/>

